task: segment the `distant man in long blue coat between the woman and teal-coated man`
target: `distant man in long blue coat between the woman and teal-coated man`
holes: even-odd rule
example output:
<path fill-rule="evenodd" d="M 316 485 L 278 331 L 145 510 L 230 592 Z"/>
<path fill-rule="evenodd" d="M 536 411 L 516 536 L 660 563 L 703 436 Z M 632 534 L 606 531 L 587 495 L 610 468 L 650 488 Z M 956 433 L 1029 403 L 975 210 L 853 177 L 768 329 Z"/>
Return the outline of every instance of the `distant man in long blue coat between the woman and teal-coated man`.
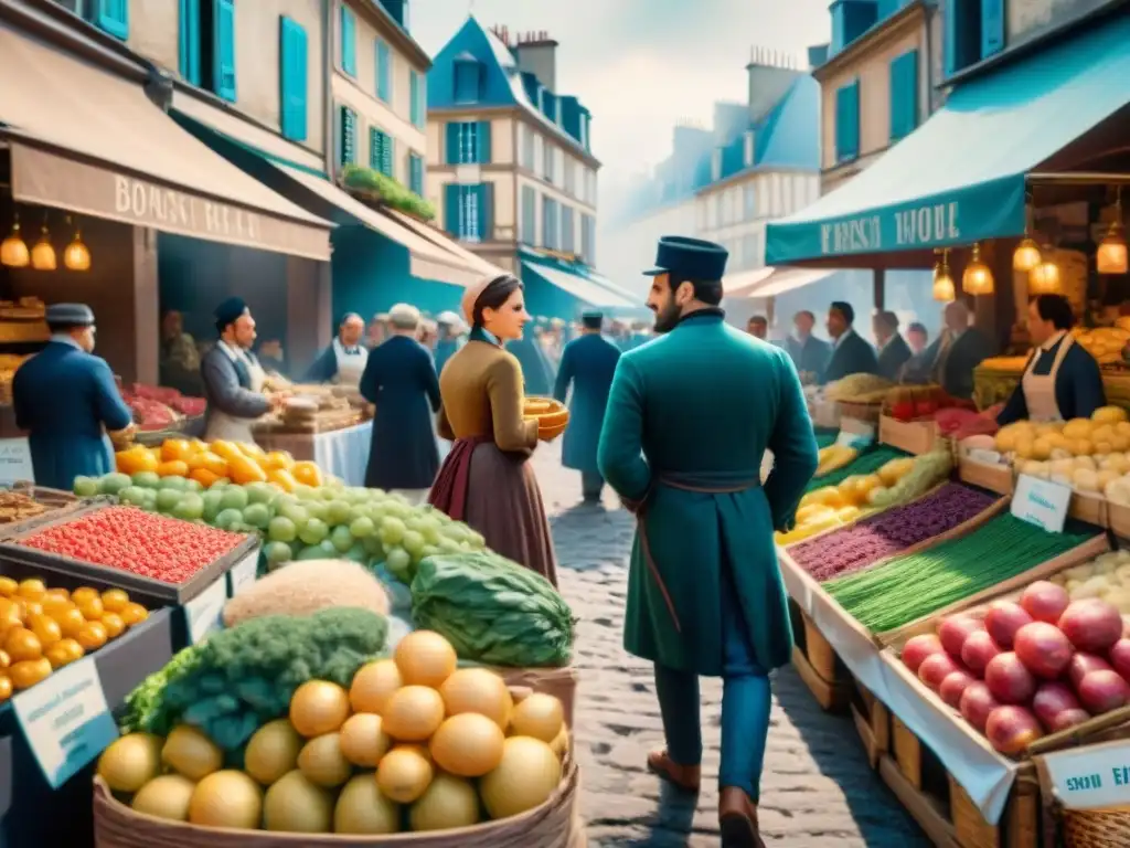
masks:
<path fill-rule="evenodd" d="M 605 422 L 608 390 L 612 386 L 620 351 L 600 335 L 605 315 L 590 311 L 581 317 L 581 336 L 565 345 L 557 369 L 554 397 L 565 403 L 570 383 L 570 419 L 562 445 L 562 465 L 581 471 L 581 491 L 585 503 L 599 503 L 605 478 L 597 467 L 597 444 Z"/>

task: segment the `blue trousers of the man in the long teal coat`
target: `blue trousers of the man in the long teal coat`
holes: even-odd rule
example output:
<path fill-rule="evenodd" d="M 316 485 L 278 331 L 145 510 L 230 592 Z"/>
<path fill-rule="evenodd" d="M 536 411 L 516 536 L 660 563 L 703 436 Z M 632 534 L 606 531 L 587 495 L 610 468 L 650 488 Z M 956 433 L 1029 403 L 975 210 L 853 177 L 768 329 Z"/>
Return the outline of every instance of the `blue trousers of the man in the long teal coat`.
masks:
<path fill-rule="evenodd" d="M 742 789 L 757 803 L 772 694 L 768 674 L 758 665 L 738 590 L 722 568 L 722 763 L 720 788 Z M 663 718 L 667 754 L 680 765 L 702 762 L 698 676 L 655 664 L 655 692 Z"/>

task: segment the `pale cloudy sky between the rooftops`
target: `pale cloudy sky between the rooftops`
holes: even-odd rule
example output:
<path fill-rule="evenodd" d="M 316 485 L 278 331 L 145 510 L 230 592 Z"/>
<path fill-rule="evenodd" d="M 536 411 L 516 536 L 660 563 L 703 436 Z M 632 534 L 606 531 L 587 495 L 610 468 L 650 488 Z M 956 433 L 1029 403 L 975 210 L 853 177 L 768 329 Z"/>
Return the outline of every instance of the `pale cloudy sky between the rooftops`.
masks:
<path fill-rule="evenodd" d="M 437 53 L 469 12 L 513 34 L 548 31 L 557 88 L 592 111 L 603 162 L 601 205 L 632 173 L 663 159 L 683 119 L 709 126 L 719 99 L 746 99 L 753 46 L 796 58 L 831 32 L 828 0 L 414 0 L 411 32 Z"/>

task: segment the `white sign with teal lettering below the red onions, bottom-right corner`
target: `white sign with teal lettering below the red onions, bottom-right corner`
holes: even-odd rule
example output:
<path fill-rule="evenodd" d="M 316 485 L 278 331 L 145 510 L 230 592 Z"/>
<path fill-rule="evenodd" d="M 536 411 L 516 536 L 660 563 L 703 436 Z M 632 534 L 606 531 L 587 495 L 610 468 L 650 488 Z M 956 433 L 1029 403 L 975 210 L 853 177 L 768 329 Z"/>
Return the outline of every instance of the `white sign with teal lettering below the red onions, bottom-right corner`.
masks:
<path fill-rule="evenodd" d="M 1130 741 L 1119 739 L 1044 755 L 1048 776 L 1071 810 L 1130 804 Z"/>

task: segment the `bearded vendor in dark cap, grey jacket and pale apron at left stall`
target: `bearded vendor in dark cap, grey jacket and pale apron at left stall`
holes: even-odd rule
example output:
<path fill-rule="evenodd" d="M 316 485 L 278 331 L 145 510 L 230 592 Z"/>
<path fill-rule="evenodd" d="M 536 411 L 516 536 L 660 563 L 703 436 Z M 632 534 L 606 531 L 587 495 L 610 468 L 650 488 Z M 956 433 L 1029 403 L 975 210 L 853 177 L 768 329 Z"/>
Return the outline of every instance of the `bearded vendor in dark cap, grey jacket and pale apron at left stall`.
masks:
<path fill-rule="evenodd" d="M 240 297 L 229 297 L 216 308 L 219 340 L 200 362 L 200 375 L 208 399 L 206 439 L 254 442 L 252 423 L 281 403 L 281 396 L 266 393 L 267 373 L 251 352 L 255 341 L 255 319 Z"/>

